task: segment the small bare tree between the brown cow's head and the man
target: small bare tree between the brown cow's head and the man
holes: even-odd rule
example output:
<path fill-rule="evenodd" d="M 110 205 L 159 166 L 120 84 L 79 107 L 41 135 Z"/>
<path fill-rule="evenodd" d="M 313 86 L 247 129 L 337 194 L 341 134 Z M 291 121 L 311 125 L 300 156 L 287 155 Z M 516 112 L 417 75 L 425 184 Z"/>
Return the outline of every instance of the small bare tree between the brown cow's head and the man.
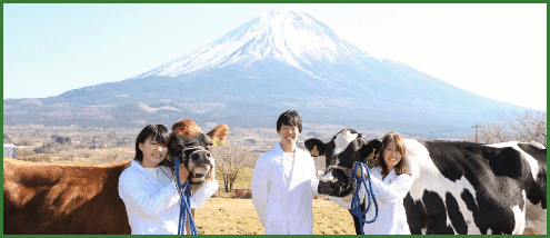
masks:
<path fill-rule="evenodd" d="M 230 192 L 239 170 L 242 167 L 250 167 L 251 155 L 244 147 L 229 145 L 229 142 L 224 142 L 223 147 L 214 147 L 212 153 L 216 158 L 216 169 L 223 176 L 226 192 Z"/>

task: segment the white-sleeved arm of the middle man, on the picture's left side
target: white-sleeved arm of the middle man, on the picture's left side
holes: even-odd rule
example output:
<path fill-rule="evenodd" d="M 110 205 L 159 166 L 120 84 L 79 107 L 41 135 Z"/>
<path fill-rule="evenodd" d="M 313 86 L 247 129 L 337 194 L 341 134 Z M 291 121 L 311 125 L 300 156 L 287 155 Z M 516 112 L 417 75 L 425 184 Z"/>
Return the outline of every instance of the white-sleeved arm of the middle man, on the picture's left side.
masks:
<path fill-rule="evenodd" d="M 254 172 L 252 175 L 252 204 L 256 207 L 256 212 L 260 218 L 261 224 L 266 227 L 266 205 L 268 202 L 269 191 L 269 173 L 263 157 L 260 157 L 254 166 Z"/>

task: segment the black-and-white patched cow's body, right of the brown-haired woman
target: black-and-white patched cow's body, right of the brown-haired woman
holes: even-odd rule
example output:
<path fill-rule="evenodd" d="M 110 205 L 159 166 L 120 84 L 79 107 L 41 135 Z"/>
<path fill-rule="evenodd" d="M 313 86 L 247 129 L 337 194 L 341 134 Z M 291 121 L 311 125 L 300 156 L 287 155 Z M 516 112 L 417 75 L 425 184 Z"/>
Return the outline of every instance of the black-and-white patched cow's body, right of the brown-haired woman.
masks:
<path fill-rule="evenodd" d="M 412 234 L 521 234 L 528 226 L 526 198 L 540 187 L 542 170 L 518 142 L 406 145 L 414 184 L 403 202 Z M 546 195 L 538 201 L 546 210 Z"/>

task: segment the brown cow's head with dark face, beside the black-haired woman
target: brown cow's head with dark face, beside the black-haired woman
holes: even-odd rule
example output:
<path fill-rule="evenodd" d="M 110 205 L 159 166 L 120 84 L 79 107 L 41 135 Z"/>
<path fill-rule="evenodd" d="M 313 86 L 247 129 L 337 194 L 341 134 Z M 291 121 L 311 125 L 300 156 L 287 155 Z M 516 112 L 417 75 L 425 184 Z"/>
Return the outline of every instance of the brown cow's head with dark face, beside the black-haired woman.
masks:
<path fill-rule="evenodd" d="M 191 186 L 196 190 L 207 179 L 214 178 L 214 158 L 211 153 L 214 140 L 226 140 L 229 129 L 227 125 L 220 125 L 212 131 L 203 133 L 192 120 L 181 120 L 172 126 L 168 150 L 170 161 L 180 159 L 190 171 Z"/>

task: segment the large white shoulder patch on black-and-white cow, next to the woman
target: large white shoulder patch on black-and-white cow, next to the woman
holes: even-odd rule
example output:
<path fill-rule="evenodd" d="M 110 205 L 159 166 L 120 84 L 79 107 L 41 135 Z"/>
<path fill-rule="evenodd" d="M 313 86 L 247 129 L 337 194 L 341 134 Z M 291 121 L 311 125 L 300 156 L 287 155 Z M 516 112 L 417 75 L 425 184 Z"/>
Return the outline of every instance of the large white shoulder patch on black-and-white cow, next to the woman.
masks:
<path fill-rule="evenodd" d="M 404 139 L 403 142 L 407 148 L 407 166 L 409 167 L 409 172 L 414 180 L 410 189 L 412 199 L 417 201 L 421 200 L 424 190 L 429 190 L 437 192 L 446 202 L 446 194 L 450 192 L 456 198 L 460 212 L 464 217 L 466 222 L 474 224 L 472 211 L 468 209 L 466 202 L 460 196 L 462 191 L 467 189 L 476 199 L 476 189 L 473 189 L 470 181 L 468 181 L 466 177 L 461 177 L 457 181 L 451 181 L 444 178 L 444 176 L 441 175 L 433 163 L 430 158 L 430 153 L 424 146 L 413 139 Z M 451 226 L 449 216 L 447 216 L 447 225 Z M 468 234 L 481 234 L 481 231 L 476 226 L 468 226 Z"/>

